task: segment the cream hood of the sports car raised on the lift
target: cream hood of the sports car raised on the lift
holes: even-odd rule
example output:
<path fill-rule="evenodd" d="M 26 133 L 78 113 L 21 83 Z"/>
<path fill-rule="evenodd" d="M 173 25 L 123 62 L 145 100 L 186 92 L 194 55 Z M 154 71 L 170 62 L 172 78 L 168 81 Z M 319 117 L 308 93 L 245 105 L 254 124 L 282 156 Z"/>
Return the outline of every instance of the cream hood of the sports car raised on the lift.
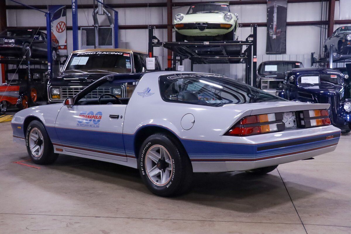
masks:
<path fill-rule="evenodd" d="M 189 14 L 184 15 L 184 19 L 180 22 L 176 22 L 177 24 L 183 23 L 198 23 L 198 22 L 206 22 L 206 23 L 228 23 L 233 24 L 235 22 L 236 17 L 234 15 L 233 19 L 230 22 L 226 22 L 223 19 L 224 14 L 221 13 L 201 13 L 201 14 Z"/>

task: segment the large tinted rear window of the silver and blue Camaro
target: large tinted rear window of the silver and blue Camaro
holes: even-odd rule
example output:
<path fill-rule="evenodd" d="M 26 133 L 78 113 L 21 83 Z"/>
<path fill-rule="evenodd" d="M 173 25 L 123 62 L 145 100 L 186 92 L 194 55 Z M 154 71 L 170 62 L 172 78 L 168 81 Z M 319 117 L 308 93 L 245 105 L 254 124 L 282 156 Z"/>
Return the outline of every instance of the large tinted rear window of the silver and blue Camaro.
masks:
<path fill-rule="evenodd" d="M 204 106 L 284 101 L 260 89 L 222 75 L 173 74 L 160 76 L 165 101 Z"/>

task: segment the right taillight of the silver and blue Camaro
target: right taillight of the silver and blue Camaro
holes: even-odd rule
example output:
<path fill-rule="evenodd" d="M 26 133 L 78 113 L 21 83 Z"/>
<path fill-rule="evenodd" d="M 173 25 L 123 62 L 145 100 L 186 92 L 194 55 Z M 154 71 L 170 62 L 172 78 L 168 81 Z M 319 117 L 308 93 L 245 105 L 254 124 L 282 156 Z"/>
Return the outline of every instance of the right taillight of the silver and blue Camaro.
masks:
<path fill-rule="evenodd" d="M 299 111 L 297 116 L 297 125 L 301 128 L 330 125 L 329 114 L 325 109 Z"/>

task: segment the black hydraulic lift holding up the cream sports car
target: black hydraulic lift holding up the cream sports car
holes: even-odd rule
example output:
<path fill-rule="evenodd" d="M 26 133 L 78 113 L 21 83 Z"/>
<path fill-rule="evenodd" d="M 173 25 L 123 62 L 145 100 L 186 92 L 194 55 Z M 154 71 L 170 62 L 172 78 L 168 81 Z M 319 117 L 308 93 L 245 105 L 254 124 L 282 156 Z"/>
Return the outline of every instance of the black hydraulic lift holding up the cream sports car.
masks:
<path fill-rule="evenodd" d="M 154 28 L 148 27 L 150 58 L 153 56 L 153 47 L 164 47 L 173 51 L 173 71 L 177 69 L 177 61 L 183 65 L 184 59 L 191 60 L 191 71 L 194 64 L 245 63 L 245 82 L 256 87 L 257 25 L 252 25 L 252 34 L 245 41 L 161 42 L 154 35 Z M 247 46 L 244 52 L 243 46 Z"/>

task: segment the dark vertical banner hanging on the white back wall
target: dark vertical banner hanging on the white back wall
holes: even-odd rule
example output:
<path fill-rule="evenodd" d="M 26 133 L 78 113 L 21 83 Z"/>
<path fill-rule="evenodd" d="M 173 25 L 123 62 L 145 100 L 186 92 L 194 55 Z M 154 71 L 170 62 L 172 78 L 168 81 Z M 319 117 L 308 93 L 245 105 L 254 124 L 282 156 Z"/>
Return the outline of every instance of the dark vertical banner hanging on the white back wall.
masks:
<path fill-rule="evenodd" d="M 286 53 L 287 0 L 267 0 L 267 54 Z"/>

